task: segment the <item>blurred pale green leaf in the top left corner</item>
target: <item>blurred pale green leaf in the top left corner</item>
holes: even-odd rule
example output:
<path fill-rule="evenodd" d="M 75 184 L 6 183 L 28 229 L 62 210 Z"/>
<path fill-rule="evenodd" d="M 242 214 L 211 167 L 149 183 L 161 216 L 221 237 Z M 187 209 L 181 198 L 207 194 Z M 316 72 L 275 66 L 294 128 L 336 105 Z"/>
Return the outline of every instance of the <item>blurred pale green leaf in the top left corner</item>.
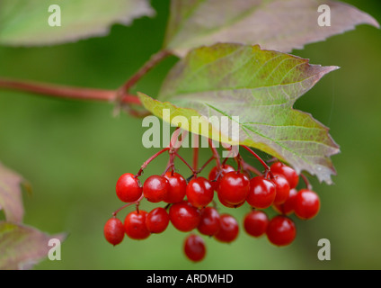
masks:
<path fill-rule="evenodd" d="M 61 8 L 59 27 L 49 26 L 51 4 Z M 47 45 L 103 36 L 113 23 L 128 25 L 153 14 L 147 0 L 2 0 L 0 44 Z"/>

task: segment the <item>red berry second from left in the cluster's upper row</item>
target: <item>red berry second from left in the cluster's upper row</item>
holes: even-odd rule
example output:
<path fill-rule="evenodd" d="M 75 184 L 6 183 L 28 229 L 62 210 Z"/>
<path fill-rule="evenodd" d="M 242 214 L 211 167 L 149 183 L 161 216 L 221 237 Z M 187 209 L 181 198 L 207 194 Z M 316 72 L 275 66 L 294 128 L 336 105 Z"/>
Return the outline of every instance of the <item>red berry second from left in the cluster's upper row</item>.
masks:
<path fill-rule="evenodd" d="M 169 189 L 169 181 L 161 175 L 149 176 L 143 184 L 143 193 L 149 202 L 163 201 Z"/>

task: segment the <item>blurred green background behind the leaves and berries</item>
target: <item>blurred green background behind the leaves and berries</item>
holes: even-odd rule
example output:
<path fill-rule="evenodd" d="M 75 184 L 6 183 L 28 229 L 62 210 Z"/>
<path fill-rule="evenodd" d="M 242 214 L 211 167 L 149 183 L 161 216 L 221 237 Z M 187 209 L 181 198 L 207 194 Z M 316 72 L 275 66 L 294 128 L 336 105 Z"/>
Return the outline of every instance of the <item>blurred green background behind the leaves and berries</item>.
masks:
<path fill-rule="evenodd" d="M 346 2 L 381 23 L 379 1 Z M 152 1 L 152 5 L 155 18 L 138 19 L 130 27 L 114 25 L 107 37 L 42 48 L 0 47 L 0 76 L 114 89 L 161 48 L 168 1 Z M 198 264 L 182 253 L 187 234 L 171 225 L 164 234 L 144 241 L 125 238 L 117 247 L 103 238 L 104 223 L 122 205 L 115 194 L 119 176 L 137 173 L 156 151 L 142 146 L 146 129 L 140 119 L 124 113 L 113 117 L 111 103 L 0 90 L 0 161 L 33 188 L 31 196 L 24 194 L 24 221 L 49 234 L 68 233 L 62 260 L 46 259 L 35 269 L 380 269 L 380 36 L 379 30 L 361 25 L 293 51 L 313 64 L 341 67 L 296 104 L 330 127 L 341 146 L 341 154 L 332 157 L 338 172 L 335 184 L 312 179 L 321 196 L 320 214 L 314 220 L 296 220 L 297 239 L 289 247 L 274 247 L 266 238 L 247 236 L 243 229 L 230 245 L 205 238 L 208 254 Z M 155 97 L 175 61 L 174 57 L 164 60 L 139 82 L 137 90 Z M 181 152 L 190 159 L 190 149 Z M 207 148 L 200 153 L 201 162 L 208 159 Z M 161 174 L 166 161 L 165 156 L 156 159 L 143 179 Z M 184 166 L 178 167 L 188 174 Z M 141 209 L 154 206 L 142 202 Z M 120 212 L 120 219 L 132 209 Z M 221 211 L 231 212 L 242 228 L 249 207 Z M 320 238 L 331 241 L 331 261 L 317 258 Z"/>

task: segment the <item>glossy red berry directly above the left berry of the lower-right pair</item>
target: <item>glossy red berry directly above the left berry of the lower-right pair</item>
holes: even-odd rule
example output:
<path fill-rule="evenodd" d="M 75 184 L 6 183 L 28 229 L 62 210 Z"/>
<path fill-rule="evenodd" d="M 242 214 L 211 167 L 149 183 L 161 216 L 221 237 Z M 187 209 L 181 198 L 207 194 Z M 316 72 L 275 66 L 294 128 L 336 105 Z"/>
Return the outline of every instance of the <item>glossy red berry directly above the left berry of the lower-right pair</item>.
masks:
<path fill-rule="evenodd" d="M 256 176 L 250 180 L 246 201 L 254 208 L 265 209 L 271 206 L 276 195 L 275 185 L 270 180 Z"/>

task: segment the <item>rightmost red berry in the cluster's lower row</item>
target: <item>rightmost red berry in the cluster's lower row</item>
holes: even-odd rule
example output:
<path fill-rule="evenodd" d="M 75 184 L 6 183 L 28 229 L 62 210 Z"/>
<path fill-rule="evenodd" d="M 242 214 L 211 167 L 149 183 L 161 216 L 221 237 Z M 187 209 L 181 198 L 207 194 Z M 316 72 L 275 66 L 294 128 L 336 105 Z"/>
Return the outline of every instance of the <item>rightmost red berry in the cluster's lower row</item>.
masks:
<path fill-rule="evenodd" d="M 276 216 L 270 220 L 266 230 L 270 243 L 276 246 L 288 246 L 297 236 L 297 228 L 286 216 Z"/>

